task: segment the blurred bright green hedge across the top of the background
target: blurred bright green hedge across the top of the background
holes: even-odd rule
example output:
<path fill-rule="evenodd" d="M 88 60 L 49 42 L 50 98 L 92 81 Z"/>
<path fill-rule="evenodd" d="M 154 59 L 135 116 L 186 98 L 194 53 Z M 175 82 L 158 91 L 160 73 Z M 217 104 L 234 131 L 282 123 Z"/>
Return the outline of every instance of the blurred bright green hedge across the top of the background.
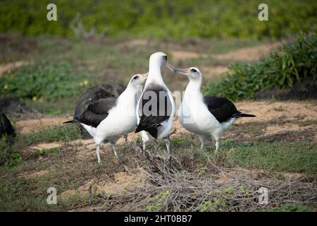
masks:
<path fill-rule="evenodd" d="M 47 23 L 46 6 L 57 5 L 58 23 Z M 265 37 L 280 38 L 316 23 L 317 1 L 268 0 L 269 23 L 258 20 L 257 8 L 263 1 L 244 0 L 2 0 L 0 32 L 23 35 L 73 37 L 70 23 L 80 13 L 86 28 L 92 26 L 108 37 Z"/>

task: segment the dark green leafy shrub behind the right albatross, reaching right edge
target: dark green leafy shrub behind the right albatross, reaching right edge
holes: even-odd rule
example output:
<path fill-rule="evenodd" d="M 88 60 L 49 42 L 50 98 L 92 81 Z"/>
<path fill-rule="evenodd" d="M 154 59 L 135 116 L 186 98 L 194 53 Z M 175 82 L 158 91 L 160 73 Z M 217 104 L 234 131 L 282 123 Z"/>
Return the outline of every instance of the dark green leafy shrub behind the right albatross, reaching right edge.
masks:
<path fill-rule="evenodd" d="M 317 76 L 317 30 L 301 33 L 296 42 L 278 47 L 268 57 L 254 64 L 235 63 L 229 67 L 220 83 L 207 84 L 206 95 L 227 97 L 230 100 L 252 98 L 254 94 L 279 88 L 285 90 L 296 81 Z"/>

